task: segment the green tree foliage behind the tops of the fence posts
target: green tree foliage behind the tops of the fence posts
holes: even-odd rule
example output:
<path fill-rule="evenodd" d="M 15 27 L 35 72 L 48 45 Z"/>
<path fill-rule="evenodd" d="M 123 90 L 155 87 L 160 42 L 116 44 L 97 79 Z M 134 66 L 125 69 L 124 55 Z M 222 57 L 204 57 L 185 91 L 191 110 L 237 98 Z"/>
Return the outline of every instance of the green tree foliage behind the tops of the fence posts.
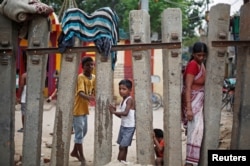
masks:
<path fill-rule="evenodd" d="M 65 1 L 65 0 L 63 0 Z M 53 6 L 58 14 L 62 0 L 42 0 L 42 2 Z M 71 1 L 71 0 L 69 0 Z M 75 0 L 78 8 L 87 13 L 96 9 L 109 6 L 114 9 L 120 18 L 119 27 L 129 32 L 129 12 L 138 10 L 140 0 Z M 182 11 L 183 39 L 193 40 L 195 28 L 202 24 L 202 13 L 205 13 L 206 3 L 209 0 L 148 0 L 151 32 L 161 34 L 161 13 L 166 8 L 180 8 Z"/>

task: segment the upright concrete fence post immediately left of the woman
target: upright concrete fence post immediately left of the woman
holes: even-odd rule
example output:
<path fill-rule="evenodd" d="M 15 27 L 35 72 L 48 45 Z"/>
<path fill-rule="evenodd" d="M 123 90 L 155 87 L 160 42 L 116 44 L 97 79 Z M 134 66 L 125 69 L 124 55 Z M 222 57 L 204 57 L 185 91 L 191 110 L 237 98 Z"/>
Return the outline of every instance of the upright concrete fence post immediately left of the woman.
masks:
<path fill-rule="evenodd" d="M 162 42 L 182 41 L 182 16 L 177 8 L 162 13 Z M 164 106 L 164 165 L 182 165 L 181 143 L 181 49 L 164 49 L 163 106 Z"/>

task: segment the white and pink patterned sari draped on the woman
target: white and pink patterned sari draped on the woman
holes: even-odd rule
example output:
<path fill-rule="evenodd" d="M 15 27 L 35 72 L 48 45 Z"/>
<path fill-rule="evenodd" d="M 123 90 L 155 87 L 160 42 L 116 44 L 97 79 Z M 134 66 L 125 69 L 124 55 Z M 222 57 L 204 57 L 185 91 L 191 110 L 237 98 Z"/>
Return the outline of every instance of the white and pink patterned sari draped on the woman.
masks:
<path fill-rule="evenodd" d="M 202 65 L 201 70 L 194 77 L 194 80 L 205 79 L 204 74 L 205 68 Z M 186 163 L 197 165 L 200 159 L 200 148 L 204 130 L 204 86 L 199 90 L 192 90 L 191 93 L 193 120 L 188 121 L 186 118 L 186 99 L 184 86 L 182 91 L 182 121 L 184 124 L 184 128 L 187 128 Z"/>

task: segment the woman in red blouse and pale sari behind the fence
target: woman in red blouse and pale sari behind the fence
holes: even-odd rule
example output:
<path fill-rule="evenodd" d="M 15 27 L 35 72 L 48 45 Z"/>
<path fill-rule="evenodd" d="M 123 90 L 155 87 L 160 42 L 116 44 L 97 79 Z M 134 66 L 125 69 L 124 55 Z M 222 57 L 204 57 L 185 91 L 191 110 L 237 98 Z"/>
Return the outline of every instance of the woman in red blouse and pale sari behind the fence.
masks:
<path fill-rule="evenodd" d="M 187 153 L 185 166 L 198 165 L 203 137 L 204 120 L 204 60 L 208 49 L 206 44 L 196 42 L 192 57 L 183 74 L 182 121 L 187 129 Z"/>

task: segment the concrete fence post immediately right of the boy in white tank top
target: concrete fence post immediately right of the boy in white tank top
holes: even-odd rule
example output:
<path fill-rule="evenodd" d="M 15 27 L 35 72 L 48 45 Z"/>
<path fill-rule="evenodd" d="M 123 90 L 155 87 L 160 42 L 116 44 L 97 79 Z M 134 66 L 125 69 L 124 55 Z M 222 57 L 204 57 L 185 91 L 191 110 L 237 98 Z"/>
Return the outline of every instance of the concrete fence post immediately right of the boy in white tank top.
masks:
<path fill-rule="evenodd" d="M 145 10 L 133 10 L 129 15 L 130 43 L 150 43 L 150 21 Z M 132 51 L 133 76 L 136 102 L 137 162 L 154 164 L 153 113 L 151 103 L 150 52 Z"/>

